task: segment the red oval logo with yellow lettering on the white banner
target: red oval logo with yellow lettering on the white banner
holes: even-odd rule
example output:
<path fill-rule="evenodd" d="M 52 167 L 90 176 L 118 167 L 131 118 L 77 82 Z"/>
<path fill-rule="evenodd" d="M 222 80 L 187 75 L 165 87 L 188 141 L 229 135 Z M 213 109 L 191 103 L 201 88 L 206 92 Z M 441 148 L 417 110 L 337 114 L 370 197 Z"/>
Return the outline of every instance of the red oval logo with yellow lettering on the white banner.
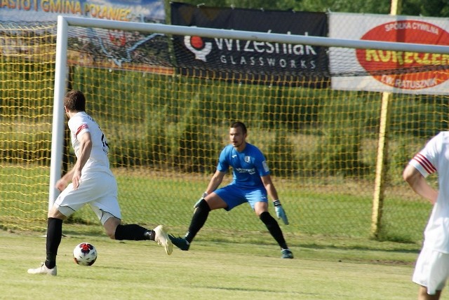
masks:
<path fill-rule="evenodd" d="M 449 45 L 448 32 L 417 20 L 384 23 L 366 32 L 361 39 Z M 394 88 L 420 90 L 438 86 L 449 79 L 446 69 L 435 69 L 438 65 L 449 64 L 448 54 L 356 49 L 356 56 L 371 76 Z"/>

